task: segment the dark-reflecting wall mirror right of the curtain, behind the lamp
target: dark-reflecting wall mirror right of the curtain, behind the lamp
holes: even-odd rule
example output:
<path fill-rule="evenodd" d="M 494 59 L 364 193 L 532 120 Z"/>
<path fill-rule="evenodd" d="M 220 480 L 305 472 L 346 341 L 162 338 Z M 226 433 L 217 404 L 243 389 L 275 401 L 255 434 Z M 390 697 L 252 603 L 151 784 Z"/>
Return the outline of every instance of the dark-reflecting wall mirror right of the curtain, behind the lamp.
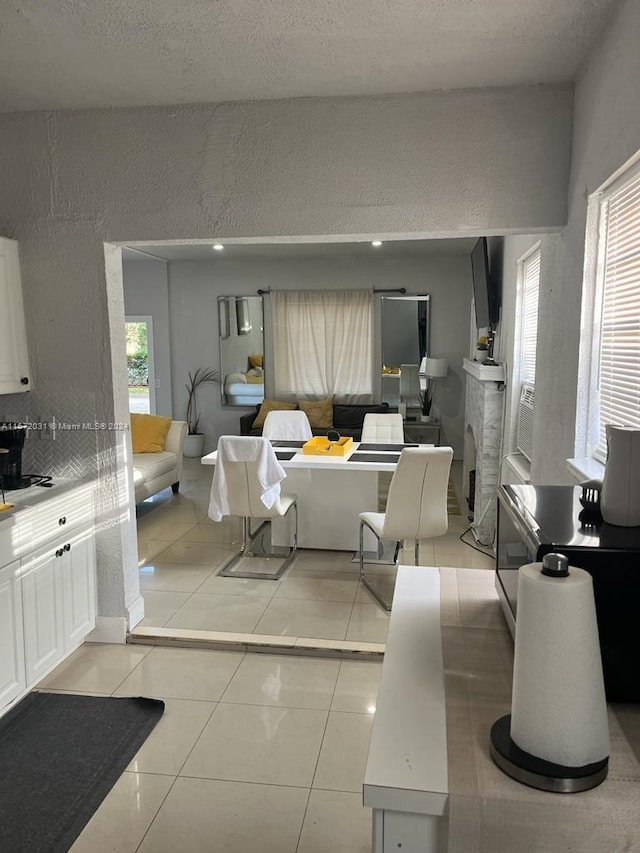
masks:
<path fill-rule="evenodd" d="M 400 403 L 400 367 L 418 369 L 429 353 L 430 297 L 382 297 L 382 401 Z"/>

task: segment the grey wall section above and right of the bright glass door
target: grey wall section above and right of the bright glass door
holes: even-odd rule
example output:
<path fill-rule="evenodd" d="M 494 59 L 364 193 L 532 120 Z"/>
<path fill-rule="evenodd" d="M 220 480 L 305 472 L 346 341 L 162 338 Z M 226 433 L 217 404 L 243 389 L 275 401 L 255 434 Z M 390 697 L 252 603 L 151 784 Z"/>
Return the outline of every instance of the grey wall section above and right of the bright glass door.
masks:
<path fill-rule="evenodd" d="M 125 314 L 153 318 L 156 414 L 173 417 L 167 264 L 153 260 L 125 261 L 122 264 L 122 275 Z"/>

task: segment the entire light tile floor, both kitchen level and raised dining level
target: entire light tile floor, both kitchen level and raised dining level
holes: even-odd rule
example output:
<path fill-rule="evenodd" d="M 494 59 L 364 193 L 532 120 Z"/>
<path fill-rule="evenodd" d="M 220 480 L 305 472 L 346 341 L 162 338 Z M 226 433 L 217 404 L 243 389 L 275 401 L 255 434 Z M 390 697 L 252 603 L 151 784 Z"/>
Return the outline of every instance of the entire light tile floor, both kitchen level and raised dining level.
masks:
<path fill-rule="evenodd" d="M 387 614 L 360 587 L 350 553 L 302 551 L 277 582 L 218 577 L 239 528 L 206 518 L 210 470 L 186 462 L 181 494 L 138 508 L 146 624 L 384 642 Z M 451 516 L 449 534 L 424 543 L 423 561 L 490 567 L 458 541 L 465 527 Z M 39 688 L 154 696 L 165 713 L 72 853 L 368 853 L 362 780 L 381 669 L 377 661 L 83 645 Z"/>

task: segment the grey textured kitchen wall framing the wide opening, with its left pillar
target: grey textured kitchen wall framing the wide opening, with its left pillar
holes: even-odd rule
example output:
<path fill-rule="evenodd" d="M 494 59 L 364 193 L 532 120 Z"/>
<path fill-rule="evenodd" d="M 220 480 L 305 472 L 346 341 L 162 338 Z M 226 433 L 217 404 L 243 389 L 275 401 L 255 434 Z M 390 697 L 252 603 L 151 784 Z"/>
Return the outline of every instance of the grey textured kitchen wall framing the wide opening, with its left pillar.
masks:
<path fill-rule="evenodd" d="M 105 241 L 561 226 L 571 103 L 568 86 L 534 86 L 0 116 L 0 233 L 20 242 L 35 380 L 95 394 L 101 420 L 126 417 Z M 130 441 L 98 442 L 98 607 L 120 617 L 139 601 Z"/>

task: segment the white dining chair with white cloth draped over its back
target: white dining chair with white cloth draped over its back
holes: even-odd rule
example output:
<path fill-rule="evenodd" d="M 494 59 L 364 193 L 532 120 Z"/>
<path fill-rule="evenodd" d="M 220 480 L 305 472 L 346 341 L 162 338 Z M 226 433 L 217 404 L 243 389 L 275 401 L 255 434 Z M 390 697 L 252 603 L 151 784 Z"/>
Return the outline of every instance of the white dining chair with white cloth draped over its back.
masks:
<path fill-rule="evenodd" d="M 291 565 L 298 548 L 298 507 L 295 495 L 283 495 L 280 483 L 286 477 L 284 468 L 278 462 L 271 442 L 258 436 L 223 435 L 218 439 L 216 467 L 211 484 L 209 498 L 209 518 L 222 521 L 226 516 L 242 518 L 242 542 L 240 550 L 222 566 L 219 575 L 236 578 L 258 578 L 277 580 Z M 268 521 L 283 518 L 289 510 L 294 511 L 295 524 L 293 545 L 291 548 L 274 548 L 270 552 L 255 554 L 254 541 L 263 526 L 255 532 L 249 532 L 252 518 Z M 257 568 L 233 568 L 243 557 L 260 559 L 261 567 L 265 560 L 272 557 L 284 557 L 279 560 L 274 571 L 258 571 Z"/>

